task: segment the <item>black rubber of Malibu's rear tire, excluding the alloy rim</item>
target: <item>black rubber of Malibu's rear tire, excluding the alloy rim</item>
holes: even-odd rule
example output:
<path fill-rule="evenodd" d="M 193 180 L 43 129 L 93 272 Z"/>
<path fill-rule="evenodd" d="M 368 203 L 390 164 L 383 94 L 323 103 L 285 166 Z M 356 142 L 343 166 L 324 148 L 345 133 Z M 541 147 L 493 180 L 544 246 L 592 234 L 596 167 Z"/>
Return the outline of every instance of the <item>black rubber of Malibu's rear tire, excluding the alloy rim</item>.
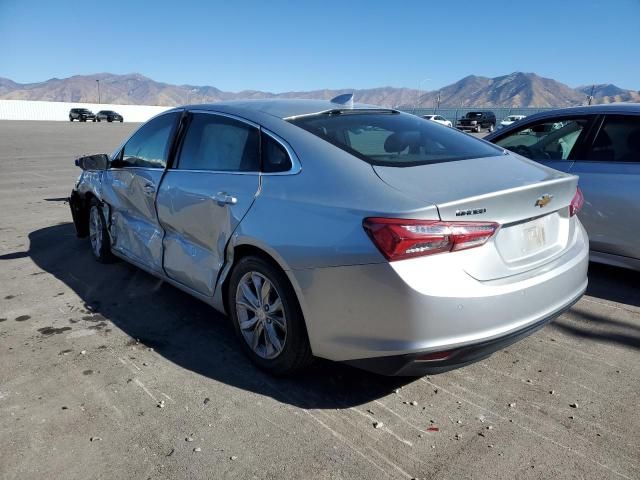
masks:
<path fill-rule="evenodd" d="M 265 359 L 257 355 L 251 347 L 247 345 L 240 331 L 235 302 L 236 290 L 240 279 L 251 271 L 258 272 L 269 279 L 280 295 L 284 307 L 287 322 L 287 337 L 282 353 L 274 359 Z M 240 259 L 233 268 L 229 279 L 227 305 L 238 341 L 247 356 L 258 367 L 274 375 L 287 375 L 294 373 L 309 363 L 311 359 L 311 349 L 309 347 L 304 317 L 295 291 L 286 275 L 280 269 L 259 257 L 249 256 Z"/>

